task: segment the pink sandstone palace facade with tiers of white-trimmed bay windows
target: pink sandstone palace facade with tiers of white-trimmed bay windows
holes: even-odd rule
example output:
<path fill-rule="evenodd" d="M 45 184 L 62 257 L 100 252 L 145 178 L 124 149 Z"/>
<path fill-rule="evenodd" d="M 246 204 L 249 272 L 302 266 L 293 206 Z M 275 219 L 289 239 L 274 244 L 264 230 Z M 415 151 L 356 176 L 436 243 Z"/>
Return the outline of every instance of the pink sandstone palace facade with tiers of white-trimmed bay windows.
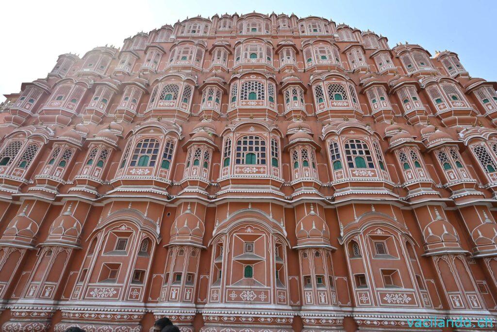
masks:
<path fill-rule="evenodd" d="M 2 329 L 496 317 L 496 87 L 293 14 L 63 54 L 1 105 Z"/>

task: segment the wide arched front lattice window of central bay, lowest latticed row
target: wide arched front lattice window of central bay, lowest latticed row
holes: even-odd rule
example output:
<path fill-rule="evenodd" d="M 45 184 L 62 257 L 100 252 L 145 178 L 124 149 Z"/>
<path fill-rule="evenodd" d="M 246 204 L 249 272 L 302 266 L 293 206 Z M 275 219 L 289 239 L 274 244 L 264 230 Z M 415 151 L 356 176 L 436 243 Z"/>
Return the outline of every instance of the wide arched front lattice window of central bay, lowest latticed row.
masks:
<path fill-rule="evenodd" d="M 237 141 L 236 165 L 266 165 L 266 142 L 254 135 L 244 136 Z"/>

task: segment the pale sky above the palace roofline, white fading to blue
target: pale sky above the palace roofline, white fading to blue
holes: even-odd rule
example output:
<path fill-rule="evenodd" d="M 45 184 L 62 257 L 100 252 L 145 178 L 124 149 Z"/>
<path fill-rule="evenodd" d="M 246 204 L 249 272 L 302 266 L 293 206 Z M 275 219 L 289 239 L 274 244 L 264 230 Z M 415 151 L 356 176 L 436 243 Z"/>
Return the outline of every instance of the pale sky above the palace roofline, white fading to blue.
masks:
<path fill-rule="evenodd" d="M 459 54 L 471 76 L 497 81 L 496 66 L 489 66 L 496 61 L 496 9 L 492 0 L 3 0 L 0 95 L 45 78 L 60 54 L 83 56 L 105 44 L 120 47 L 128 36 L 187 16 L 253 10 L 323 16 L 381 33 L 391 47 L 407 40 L 432 55 L 449 49 Z"/>

